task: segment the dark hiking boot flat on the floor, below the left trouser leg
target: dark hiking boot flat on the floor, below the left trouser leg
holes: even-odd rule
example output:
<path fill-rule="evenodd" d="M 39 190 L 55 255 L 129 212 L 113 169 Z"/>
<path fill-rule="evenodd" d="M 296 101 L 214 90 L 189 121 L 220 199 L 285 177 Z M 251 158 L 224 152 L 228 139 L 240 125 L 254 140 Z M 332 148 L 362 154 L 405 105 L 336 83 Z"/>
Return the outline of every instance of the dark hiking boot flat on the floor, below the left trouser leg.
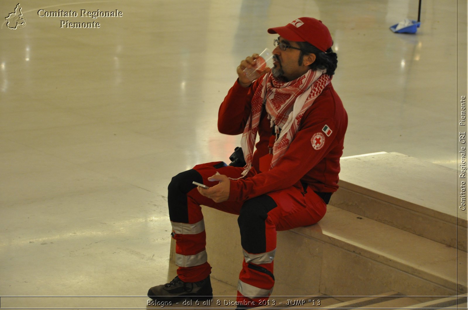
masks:
<path fill-rule="evenodd" d="M 177 301 L 187 297 L 198 300 L 212 299 L 210 276 L 198 282 L 183 282 L 177 275 L 171 282 L 149 289 L 148 297 L 154 301 Z"/>

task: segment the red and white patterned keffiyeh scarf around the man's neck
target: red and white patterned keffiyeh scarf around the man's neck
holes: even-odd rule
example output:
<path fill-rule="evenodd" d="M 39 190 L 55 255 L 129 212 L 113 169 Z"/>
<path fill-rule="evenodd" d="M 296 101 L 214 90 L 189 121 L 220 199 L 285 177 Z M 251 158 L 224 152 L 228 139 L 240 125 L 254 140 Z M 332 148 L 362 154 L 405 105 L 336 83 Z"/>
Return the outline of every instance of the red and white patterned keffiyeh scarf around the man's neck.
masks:
<path fill-rule="evenodd" d="M 242 177 L 246 176 L 252 167 L 263 102 L 266 101 L 265 108 L 271 119 L 271 125 L 276 126 L 277 133 L 278 127 L 281 129 L 273 145 L 271 169 L 289 148 L 304 113 L 330 83 L 331 76 L 324 71 L 308 70 L 303 76 L 290 82 L 273 77 L 271 72 L 263 76 L 262 85 L 256 89 L 252 98 L 250 116 L 242 134 L 241 147 L 246 162 Z"/>

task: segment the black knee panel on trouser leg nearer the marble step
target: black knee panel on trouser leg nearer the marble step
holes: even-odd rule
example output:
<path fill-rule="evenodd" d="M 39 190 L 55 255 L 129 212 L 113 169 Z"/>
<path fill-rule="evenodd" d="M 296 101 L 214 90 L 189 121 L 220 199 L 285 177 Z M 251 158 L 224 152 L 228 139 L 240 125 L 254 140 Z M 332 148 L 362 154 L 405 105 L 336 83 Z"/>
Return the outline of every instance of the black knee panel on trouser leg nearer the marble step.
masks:
<path fill-rule="evenodd" d="M 242 204 L 237 223 L 241 230 L 241 245 L 249 253 L 266 252 L 265 220 L 277 206 L 268 195 L 258 196 Z"/>

